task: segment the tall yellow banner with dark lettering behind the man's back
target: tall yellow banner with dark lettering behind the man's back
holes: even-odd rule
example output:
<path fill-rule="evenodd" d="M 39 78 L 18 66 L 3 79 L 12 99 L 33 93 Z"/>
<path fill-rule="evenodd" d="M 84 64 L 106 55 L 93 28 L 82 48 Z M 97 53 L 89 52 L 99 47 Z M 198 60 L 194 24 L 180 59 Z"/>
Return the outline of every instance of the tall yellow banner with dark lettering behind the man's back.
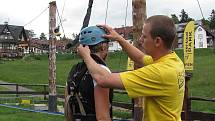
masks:
<path fill-rule="evenodd" d="M 194 21 L 190 21 L 184 30 L 184 65 L 185 70 L 193 70 L 194 62 Z"/>

